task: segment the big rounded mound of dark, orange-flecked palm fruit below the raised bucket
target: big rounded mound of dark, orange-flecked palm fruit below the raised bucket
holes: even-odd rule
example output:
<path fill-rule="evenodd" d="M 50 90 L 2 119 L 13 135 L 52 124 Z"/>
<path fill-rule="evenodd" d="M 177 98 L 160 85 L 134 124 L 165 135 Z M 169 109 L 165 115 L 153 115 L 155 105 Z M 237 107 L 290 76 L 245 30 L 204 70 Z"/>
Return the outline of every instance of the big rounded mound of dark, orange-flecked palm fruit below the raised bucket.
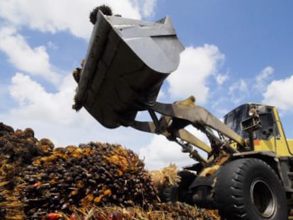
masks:
<path fill-rule="evenodd" d="M 28 216 L 113 204 L 148 208 L 157 202 L 144 163 L 120 145 L 91 142 L 55 149 L 35 159 L 23 175 Z"/>

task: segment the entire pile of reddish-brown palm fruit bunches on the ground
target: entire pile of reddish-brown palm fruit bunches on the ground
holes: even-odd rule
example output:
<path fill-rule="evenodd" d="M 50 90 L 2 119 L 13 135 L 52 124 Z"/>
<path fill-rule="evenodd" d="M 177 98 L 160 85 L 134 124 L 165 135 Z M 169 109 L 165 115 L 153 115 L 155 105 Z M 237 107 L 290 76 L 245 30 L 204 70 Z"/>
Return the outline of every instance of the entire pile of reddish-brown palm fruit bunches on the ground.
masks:
<path fill-rule="evenodd" d="M 160 203 L 144 163 L 117 144 L 54 149 L 33 129 L 0 123 L 0 219 L 217 219 Z"/>

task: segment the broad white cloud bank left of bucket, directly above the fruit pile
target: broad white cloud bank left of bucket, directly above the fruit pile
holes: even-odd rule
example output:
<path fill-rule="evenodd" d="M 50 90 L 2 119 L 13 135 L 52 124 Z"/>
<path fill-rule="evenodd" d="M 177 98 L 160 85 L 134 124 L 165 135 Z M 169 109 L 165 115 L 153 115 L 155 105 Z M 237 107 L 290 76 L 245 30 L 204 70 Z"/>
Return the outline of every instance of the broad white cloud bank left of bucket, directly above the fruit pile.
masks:
<path fill-rule="evenodd" d="M 71 74 L 62 79 L 56 93 L 49 93 L 30 76 L 17 73 L 11 79 L 9 93 L 16 107 L 0 112 L 1 121 L 15 129 L 31 127 L 37 138 L 51 139 L 57 146 L 102 141 L 124 144 L 138 151 L 149 142 L 149 134 L 131 128 L 106 129 L 86 110 L 75 112 L 71 105 L 76 83 Z M 139 134 L 139 141 L 132 138 Z"/>

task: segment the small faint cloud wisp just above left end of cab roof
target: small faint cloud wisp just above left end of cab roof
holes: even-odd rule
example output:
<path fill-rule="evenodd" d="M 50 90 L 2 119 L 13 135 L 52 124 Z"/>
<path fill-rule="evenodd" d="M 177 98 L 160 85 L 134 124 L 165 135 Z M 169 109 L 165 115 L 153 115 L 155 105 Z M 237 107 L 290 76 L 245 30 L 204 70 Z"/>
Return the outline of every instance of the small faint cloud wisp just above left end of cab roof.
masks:
<path fill-rule="evenodd" d="M 246 81 L 240 79 L 229 87 L 229 95 L 235 104 L 239 104 L 248 95 L 248 85 Z"/>

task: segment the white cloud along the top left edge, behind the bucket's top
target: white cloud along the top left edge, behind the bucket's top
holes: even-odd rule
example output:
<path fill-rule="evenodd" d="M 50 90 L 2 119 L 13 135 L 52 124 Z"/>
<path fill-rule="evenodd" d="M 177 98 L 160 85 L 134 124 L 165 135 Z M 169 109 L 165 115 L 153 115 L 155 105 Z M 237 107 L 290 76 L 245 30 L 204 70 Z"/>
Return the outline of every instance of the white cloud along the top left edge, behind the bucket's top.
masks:
<path fill-rule="evenodd" d="M 16 26 L 50 33 L 69 30 L 77 37 L 88 39 L 93 27 L 88 14 L 93 8 L 106 4 L 113 9 L 113 13 L 127 18 L 141 18 L 135 2 L 143 6 L 144 16 L 152 13 L 155 0 L 9 0 L 0 1 L 0 17 Z"/>

